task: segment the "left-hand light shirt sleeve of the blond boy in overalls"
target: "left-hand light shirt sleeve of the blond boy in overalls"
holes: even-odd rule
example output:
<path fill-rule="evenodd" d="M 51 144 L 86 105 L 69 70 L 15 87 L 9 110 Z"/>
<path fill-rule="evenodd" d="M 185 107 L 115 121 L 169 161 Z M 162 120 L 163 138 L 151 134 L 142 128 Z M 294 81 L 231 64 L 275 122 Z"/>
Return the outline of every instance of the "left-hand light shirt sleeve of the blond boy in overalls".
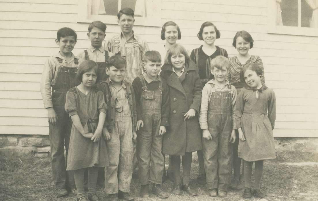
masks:
<path fill-rule="evenodd" d="M 211 93 L 211 86 L 205 85 L 202 90 L 201 109 L 199 113 L 199 123 L 201 129 L 208 129 L 208 109 Z"/>

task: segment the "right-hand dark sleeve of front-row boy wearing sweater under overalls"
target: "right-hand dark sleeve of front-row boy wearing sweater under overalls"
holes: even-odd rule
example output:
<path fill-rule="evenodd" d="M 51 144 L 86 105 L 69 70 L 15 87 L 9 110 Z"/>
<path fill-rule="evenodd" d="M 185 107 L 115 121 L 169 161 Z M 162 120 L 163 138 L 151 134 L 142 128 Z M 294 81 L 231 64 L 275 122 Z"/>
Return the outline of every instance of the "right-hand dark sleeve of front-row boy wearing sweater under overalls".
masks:
<path fill-rule="evenodd" d="M 170 93 L 167 83 L 162 80 L 161 126 L 170 126 Z"/>

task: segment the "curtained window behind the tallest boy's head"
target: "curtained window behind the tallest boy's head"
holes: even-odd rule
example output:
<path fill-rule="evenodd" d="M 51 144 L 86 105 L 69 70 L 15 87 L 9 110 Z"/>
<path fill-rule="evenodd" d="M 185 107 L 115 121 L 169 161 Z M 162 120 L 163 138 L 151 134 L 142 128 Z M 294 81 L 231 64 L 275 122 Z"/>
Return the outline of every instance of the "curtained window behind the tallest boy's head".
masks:
<path fill-rule="evenodd" d="M 100 20 L 106 24 L 117 24 L 117 13 L 123 8 L 135 11 L 135 25 L 161 26 L 160 0 L 81 0 L 78 22 Z"/>

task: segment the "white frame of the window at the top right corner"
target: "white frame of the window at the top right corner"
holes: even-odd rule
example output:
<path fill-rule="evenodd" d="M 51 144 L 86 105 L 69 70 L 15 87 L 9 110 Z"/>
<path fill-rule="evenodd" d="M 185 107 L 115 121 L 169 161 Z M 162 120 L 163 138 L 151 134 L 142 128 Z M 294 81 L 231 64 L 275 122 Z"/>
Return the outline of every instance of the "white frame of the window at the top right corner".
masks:
<path fill-rule="evenodd" d="M 267 33 L 285 35 L 318 36 L 318 28 L 276 25 L 276 1 L 267 0 Z"/>

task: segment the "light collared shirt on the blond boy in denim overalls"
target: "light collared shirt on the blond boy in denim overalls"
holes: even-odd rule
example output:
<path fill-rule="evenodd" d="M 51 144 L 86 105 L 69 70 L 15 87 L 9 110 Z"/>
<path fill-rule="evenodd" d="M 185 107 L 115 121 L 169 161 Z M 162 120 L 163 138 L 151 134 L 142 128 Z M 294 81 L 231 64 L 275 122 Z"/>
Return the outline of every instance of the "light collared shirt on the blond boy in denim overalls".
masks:
<path fill-rule="evenodd" d="M 210 83 L 214 84 L 214 87 L 209 85 Z M 208 109 L 209 109 L 209 100 L 211 98 L 213 91 L 230 91 L 230 83 L 226 81 L 224 86 L 219 86 L 216 84 L 215 79 L 208 81 L 202 90 L 202 99 L 201 99 L 201 109 L 199 113 L 199 123 L 201 129 L 208 129 Z M 236 102 L 236 88 L 232 85 L 231 87 L 231 117 L 232 117 L 232 129 L 236 129 L 236 116 L 235 116 L 235 102 Z"/>

